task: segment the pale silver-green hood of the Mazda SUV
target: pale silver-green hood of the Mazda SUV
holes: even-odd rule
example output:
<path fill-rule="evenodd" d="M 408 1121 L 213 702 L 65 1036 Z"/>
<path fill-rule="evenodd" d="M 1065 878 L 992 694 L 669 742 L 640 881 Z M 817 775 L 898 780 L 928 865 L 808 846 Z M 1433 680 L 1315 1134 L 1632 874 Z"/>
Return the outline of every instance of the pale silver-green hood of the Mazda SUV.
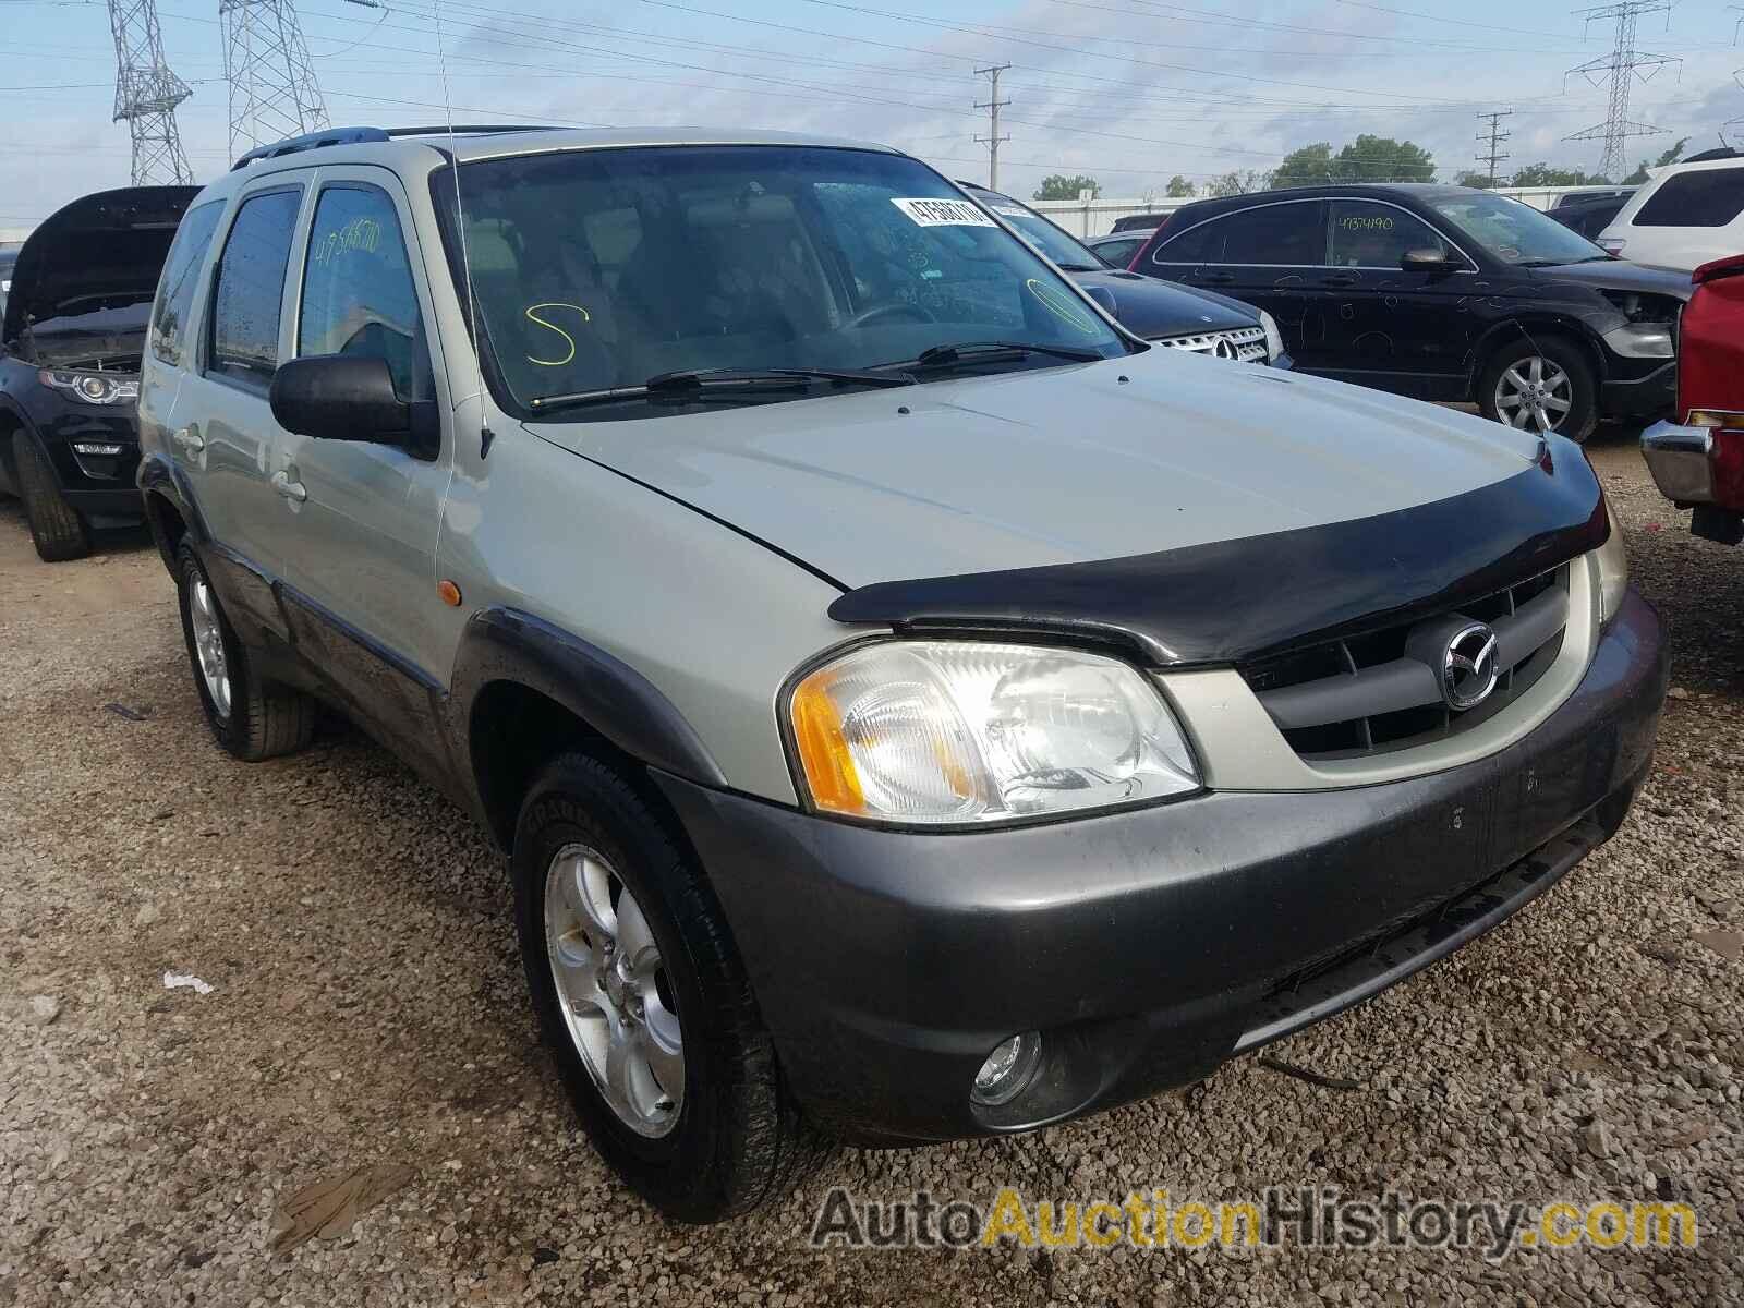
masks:
<path fill-rule="evenodd" d="M 528 429 L 844 588 L 1121 558 L 1409 509 L 1540 441 L 1182 351 Z"/>

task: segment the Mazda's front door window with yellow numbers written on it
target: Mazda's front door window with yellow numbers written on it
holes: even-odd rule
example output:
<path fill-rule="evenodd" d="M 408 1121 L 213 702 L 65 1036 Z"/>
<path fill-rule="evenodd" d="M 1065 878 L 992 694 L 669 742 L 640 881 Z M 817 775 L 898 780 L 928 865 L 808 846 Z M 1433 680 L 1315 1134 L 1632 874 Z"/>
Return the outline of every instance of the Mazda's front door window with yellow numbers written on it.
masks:
<path fill-rule="evenodd" d="M 385 359 L 401 399 L 433 396 L 406 241 L 377 187 L 326 187 L 316 202 L 296 352 Z"/>

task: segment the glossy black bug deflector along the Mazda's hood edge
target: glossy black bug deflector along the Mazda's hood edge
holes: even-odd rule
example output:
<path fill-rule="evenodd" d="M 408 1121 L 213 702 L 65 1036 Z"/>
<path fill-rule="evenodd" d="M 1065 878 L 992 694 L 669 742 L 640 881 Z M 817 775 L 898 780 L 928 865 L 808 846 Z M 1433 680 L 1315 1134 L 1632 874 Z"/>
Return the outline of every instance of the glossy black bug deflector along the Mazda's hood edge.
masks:
<path fill-rule="evenodd" d="M 1608 534 L 1585 455 L 1552 436 L 1526 471 L 1451 499 L 1155 555 L 882 581 L 841 595 L 830 617 L 1090 638 L 1158 668 L 1245 663 L 1456 607 Z"/>

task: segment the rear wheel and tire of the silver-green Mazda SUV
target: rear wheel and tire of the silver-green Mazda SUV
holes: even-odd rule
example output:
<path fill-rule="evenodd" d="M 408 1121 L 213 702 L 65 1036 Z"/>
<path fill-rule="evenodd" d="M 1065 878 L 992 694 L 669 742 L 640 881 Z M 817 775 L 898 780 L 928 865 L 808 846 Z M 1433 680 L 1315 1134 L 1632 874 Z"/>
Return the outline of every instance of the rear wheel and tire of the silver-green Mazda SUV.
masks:
<path fill-rule="evenodd" d="M 181 635 L 213 738 L 244 762 L 303 748 L 316 734 L 316 701 L 260 680 L 187 541 L 176 551 L 176 581 Z"/>

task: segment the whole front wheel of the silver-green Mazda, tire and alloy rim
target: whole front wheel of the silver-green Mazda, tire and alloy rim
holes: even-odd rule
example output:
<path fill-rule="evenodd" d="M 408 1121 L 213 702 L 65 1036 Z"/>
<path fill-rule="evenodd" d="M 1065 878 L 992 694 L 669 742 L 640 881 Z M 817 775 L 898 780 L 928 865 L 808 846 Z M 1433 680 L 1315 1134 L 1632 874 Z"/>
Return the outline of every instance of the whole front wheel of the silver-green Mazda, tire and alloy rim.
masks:
<path fill-rule="evenodd" d="M 682 1223 L 785 1193 L 816 1141 L 720 903 L 654 807 L 562 755 L 521 804 L 513 870 L 534 1012 L 600 1156 Z"/>

